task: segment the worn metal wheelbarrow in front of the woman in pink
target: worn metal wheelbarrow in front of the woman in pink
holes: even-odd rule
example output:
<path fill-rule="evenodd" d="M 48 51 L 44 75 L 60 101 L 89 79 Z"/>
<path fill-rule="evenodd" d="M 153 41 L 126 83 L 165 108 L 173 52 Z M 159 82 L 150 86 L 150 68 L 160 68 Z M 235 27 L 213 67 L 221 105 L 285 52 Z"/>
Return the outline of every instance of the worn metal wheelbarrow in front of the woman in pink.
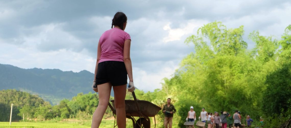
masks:
<path fill-rule="evenodd" d="M 144 100 L 137 100 L 135 93 L 132 92 L 132 96 L 134 100 L 125 100 L 125 113 L 126 118 L 131 119 L 134 128 L 150 128 L 150 118 L 157 115 L 157 113 L 162 109 L 159 106 Z M 111 100 L 112 105 L 109 103 L 109 107 L 113 112 L 114 118 L 116 120 L 116 109 L 114 107 L 114 100 Z M 139 117 L 138 120 L 135 120 L 134 117 Z M 114 120 L 114 127 L 115 125 Z M 156 127 L 156 119 L 155 119 L 155 127 Z"/>

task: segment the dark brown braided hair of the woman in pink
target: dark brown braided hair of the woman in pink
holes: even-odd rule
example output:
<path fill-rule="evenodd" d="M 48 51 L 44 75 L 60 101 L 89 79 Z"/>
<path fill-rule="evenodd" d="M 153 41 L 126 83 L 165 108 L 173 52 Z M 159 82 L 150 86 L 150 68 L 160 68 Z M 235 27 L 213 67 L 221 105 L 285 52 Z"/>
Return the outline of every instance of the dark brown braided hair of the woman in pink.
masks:
<path fill-rule="evenodd" d="M 113 19 L 112 19 L 112 26 L 118 26 L 121 30 L 123 30 L 123 23 L 127 22 L 127 17 L 123 12 L 117 12 L 115 13 Z"/>

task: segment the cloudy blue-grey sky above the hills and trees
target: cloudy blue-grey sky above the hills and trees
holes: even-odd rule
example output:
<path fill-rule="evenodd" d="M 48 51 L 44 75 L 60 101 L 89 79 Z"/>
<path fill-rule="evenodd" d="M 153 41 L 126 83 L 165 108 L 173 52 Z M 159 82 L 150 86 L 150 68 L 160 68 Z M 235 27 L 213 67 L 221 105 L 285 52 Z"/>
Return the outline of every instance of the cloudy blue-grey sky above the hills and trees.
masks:
<path fill-rule="evenodd" d="M 117 11 L 127 15 L 135 85 L 161 88 L 193 45 L 184 40 L 203 24 L 244 25 L 280 38 L 291 24 L 289 0 L 2 0 L 0 64 L 94 72 L 97 43 Z M 92 76 L 93 80 L 93 76 Z"/>

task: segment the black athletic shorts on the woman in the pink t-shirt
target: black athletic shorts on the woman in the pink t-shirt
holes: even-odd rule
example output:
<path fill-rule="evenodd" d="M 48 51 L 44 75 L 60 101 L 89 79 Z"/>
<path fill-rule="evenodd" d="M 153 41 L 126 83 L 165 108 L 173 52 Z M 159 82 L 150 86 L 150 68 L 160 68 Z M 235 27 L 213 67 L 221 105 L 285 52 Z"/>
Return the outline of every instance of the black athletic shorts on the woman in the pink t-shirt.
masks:
<path fill-rule="evenodd" d="M 104 61 L 98 64 L 96 85 L 108 82 L 112 86 L 127 84 L 127 71 L 124 62 Z"/>

